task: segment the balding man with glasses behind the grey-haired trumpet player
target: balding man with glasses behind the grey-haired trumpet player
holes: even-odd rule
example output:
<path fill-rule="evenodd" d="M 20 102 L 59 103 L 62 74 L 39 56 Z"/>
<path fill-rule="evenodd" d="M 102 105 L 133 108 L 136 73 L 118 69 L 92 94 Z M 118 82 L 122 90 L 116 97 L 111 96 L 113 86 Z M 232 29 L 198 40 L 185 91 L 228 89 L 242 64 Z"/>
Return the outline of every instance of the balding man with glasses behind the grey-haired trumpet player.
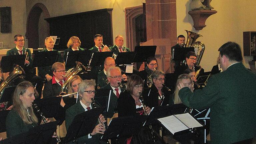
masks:
<path fill-rule="evenodd" d="M 105 58 L 104 69 L 103 71 L 98 73 L 97 87 L 104 87 L 109 83 L 109 81 L 107 80 L 107 70 L 110 67 L 115 67 L 115 66 L 116 66 L 116 62 L 112 57 Z M 124 80 L 127 80 L 127 76 L 125 74 L 123 74 L 122 77 Z"/>

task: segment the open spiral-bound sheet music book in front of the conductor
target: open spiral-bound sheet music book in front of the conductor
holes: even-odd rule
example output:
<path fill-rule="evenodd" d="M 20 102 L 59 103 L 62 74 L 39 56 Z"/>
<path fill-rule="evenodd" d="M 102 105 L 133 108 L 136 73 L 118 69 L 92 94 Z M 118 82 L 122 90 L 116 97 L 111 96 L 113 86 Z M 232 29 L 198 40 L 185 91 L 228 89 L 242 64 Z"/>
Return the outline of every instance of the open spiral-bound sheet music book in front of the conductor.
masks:
<path fill-rule="evenodd" d="M 193 116 L 189 113 L 171 115 L 157 119 L 167 130 L 173 135 L 176 132 L 193 129 L 196 127 L 203 127 Z"/>

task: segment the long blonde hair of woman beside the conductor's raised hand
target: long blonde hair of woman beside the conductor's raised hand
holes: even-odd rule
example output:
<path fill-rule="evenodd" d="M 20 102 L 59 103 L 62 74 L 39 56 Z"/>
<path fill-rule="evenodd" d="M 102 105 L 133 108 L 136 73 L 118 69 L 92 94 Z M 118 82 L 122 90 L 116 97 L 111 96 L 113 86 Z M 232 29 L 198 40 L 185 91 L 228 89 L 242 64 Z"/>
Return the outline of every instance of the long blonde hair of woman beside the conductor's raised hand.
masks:
<path fill-rule="evenodd" d="M 175 92 L 173 94 L 174 95 L 174 99 L 173 99 L 174 104 L 182 103 L 182 101 L 180 100 L 180 97 L 179 97 L 179 89 L 178 89 L 177 85 L 180 82 L 182 82 L 182 80 L 184 80 L 184 79 L 190 79 L 191 84 L 193 84 L 193 82 L 192 82 L 192 80 L 191 80 L 191 78 L 190 78 L 190 76 L 188 74 L 181 74 L 181 75 L 179 75 L 179 77 L 177 79 L 177 82 L 176 82 Z M 193 92 L 193 89 L 191 91 Z"/>

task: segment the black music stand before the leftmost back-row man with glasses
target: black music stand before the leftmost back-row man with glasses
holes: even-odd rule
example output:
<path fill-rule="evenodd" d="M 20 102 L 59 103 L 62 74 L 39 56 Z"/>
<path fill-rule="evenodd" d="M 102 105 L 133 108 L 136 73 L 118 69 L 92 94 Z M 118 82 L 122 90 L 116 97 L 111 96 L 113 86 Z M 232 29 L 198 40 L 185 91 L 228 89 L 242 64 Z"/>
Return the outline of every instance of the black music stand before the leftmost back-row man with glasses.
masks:
<path fill-rule="evenodd" d="M 3 56 L 1 59 L 2 72 L 11 72 L 13 70 L 14 64 L 17 64 L 24 69 L 25 58 L 26 55 Z"/>

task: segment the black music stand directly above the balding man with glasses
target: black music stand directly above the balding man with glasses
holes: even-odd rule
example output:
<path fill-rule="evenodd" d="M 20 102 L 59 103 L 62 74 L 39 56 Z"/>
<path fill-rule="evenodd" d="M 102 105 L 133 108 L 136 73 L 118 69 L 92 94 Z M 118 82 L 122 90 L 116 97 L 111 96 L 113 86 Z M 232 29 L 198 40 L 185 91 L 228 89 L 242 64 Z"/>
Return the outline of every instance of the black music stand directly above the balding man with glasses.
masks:
<path fill-rule="evenodd" d="M 95 52 L 92 53 L 92 58 L 90 60 L 90 66 L 103 65 L 105 58 L 112 57 L 114 52 Z"/>

